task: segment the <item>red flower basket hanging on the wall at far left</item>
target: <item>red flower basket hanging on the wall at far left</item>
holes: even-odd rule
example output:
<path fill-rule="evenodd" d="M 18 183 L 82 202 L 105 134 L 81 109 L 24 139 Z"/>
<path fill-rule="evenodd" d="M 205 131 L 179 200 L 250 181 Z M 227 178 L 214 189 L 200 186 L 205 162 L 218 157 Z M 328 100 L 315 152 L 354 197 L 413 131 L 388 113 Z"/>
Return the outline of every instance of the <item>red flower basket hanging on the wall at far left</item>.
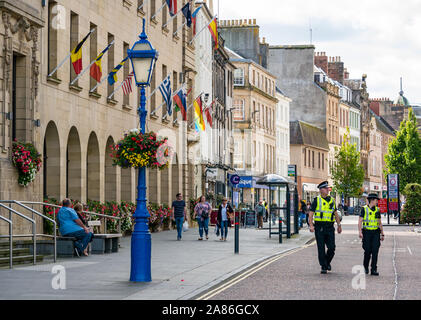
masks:
<path fill-rule="evenodd" d="M 41 155 L 32 143 L 14 141 L 12 161 L 19 172 L 18 183 L 24 187 L 34 181 L 36 173 L 41 169 Z"/>

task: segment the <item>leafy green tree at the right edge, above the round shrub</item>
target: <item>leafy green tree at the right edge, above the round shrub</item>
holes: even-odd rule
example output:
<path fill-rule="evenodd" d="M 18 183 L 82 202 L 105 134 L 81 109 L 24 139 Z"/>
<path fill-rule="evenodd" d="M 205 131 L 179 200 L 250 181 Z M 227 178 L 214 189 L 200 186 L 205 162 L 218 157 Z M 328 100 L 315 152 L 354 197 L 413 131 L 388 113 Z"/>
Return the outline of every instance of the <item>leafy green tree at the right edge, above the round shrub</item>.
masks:
<path fill-rule="evenodd" d="M 399 174 L 401 190 L 410 183 L 421 184 L 421 139 L 412 108 L 408 119 L 401 122 L 396 138 L 389 144 L 385 162 L 385 176 Z"/>

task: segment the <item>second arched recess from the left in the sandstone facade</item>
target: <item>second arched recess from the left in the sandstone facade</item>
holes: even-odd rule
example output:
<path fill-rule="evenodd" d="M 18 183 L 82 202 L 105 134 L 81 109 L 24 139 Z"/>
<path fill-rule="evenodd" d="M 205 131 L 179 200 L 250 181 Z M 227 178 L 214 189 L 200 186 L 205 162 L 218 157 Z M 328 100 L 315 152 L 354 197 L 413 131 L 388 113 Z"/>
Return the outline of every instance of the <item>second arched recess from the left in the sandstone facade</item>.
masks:
<path fill-rule="evenodd" d="M 82 153 L 79 133 L 70 129 L 66 150 L 66 196 L 73 200 L 82 199 Z"/>

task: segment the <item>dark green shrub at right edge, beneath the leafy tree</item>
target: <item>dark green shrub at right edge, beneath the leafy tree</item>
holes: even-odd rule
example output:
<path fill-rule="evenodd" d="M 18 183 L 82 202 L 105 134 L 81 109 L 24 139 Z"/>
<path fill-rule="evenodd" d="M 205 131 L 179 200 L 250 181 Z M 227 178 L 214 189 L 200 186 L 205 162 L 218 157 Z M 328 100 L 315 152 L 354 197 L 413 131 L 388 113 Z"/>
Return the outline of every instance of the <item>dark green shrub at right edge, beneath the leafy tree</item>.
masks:
<path fill-rule="evenodd" d="M 406 197 L 406 202 L 401 212 L 402 222 L 410 224 L 421 222 L 421 185 L 407 184 L 403 194 Z"/>

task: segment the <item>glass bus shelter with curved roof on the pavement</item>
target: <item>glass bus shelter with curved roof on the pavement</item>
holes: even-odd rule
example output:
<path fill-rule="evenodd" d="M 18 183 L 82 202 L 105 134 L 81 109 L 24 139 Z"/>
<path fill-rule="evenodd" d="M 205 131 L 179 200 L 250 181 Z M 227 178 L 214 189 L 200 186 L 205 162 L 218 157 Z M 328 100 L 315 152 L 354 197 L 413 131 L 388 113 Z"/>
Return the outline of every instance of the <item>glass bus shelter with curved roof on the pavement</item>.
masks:
<path fill-rule="evenodd" d="M 257 181 L 259 185 L 269 188 L 269 238 L 282 234 L 291 238 L 291 234 L 298 234 L 298 192 L 297 184 L 289 178 L 277 174 L 268 174 Z M 275 221 L 278 221 L 276 228 Z"/>

